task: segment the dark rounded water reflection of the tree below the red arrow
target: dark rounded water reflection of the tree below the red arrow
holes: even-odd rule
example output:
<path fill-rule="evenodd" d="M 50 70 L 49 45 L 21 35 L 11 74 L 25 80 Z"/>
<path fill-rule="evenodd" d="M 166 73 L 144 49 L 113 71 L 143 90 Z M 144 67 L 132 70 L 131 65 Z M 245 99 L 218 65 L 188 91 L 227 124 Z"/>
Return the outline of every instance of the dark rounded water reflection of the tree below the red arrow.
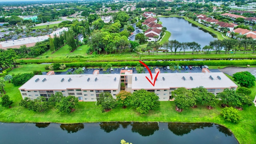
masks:
<path fill-rule="evenodd" d="M 134 122 L 131 124 L 132 132 L 138 132 L 141 136 L 150 136 L 155 131 L 159 130 L 159 126 L 156 122 Z"/>

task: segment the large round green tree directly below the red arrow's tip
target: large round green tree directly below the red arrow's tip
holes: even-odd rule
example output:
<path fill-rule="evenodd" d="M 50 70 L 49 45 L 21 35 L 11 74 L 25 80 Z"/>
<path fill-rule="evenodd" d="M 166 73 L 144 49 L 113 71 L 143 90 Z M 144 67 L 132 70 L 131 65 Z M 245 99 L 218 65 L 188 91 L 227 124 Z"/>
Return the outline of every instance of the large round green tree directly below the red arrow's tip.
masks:
<path fill-rule="evenodd" d="M 159 97 L 155 93 L 142 89 L 132 93 L 131 105 L 140 114 L 147 114 L 149 110 L 159 108 L 160 102 Z"/>

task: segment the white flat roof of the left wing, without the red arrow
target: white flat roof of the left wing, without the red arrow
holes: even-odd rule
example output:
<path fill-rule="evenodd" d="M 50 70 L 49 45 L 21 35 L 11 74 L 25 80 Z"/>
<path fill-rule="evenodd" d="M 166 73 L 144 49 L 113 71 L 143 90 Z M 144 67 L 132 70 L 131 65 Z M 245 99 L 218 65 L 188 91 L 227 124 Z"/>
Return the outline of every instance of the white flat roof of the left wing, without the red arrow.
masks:
<path fill-rule="evenodd" d="M 44 78 L 46 80 L 42 82 Z M 64 78 L 63 82 L 61 82 L 62 78 Z M 68 82 L 69 78 L 71 80 Z M 88 78 L 90 78 L 89 81 L 87 81 Z M 116 80 L 114 80 L 115 78 Z M 36 79 L 39 79 L 38 82 Z M 35 75 L 19 90 L 118 90 L 119 85 L 120 74 Z"/>

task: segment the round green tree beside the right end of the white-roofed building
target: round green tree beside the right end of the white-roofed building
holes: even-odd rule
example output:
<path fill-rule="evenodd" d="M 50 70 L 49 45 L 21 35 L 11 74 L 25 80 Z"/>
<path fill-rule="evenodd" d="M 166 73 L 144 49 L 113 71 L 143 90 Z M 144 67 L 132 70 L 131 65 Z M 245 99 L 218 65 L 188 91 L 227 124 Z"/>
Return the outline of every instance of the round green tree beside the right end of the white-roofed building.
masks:
<path fill-rule="evenodd" d="M 255 76 L 248 71 L 237 72 L 233 74 L 233 78 L 241 86 L 244 86 L 247 88 L 255 86 Z"/>

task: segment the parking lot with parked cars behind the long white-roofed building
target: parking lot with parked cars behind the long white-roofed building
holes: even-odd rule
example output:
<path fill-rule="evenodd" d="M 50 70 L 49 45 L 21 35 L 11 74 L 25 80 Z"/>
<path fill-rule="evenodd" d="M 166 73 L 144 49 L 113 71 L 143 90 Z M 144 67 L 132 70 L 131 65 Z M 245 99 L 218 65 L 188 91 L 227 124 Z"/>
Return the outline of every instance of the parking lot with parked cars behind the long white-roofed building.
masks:
<path fill-rule="evenodd" d="M 92 74 L 94 72 L 94 70 L 99 70 L 100 74 L 120 74 L 121 68 L 118 67 L 113 67 L 113 70 L 110 70 L 110 68 L 108 68 L 106 71 L 103 71 L 103 68 L 85 68 L 83 74 Z M 155 72 L 155 68 L 153 67 L 153 69 L 151 70 L 152 73 Z M 177 70 L 172 70 L 172 69 L 167 69 L 166 67 L 158 67 L 161 73 L 176 73 Z M 75 68 L 69 68 L 66 72 L 55 72 L 55 74 L 67 74 L 68 72 L 74 72 Z M 132 70 L 132 73 L 137 74 L 136 68 L 135 67 L 128 67 L 128 70 Z M 220 70 L 218 69 L 209 69 L 210 72 L 220 72 Z M 145 73 L 149 73 L 147 68 L 144 67 L 144 72 Z M 179 70 L 179 72 L 202 72 L 202 68 L 200 68 L 200 66 L 192 66 L 191 69 L 181 69 Z M 43 74 L 47 74 L 47 72 L 42 72 Z"/>

